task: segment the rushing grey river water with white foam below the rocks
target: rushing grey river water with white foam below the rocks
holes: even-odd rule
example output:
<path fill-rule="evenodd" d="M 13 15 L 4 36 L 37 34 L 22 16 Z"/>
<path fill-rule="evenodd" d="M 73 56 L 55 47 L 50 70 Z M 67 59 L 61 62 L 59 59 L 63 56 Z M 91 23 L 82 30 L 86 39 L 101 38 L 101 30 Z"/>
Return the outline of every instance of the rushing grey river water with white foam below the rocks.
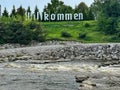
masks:
<path fill-rule="evenodd" d="M 80 90 L 110 90 L 110 84 L 105 78 L 111 75 L 119 79 L 120 68 L 99 65 L 101 61 L 92 60 L 44 64 L 32 60 L 0 63 L 0 90 L 78 90 L 80 84 L 76 83 L 76 75 L 89 75 L 89 81 L 98 86 L 92 89 L 82 87 Z M 101 78 L 103 81 L 100 81 Z M 120 90 L 119 83 L 111 90 Z"/>

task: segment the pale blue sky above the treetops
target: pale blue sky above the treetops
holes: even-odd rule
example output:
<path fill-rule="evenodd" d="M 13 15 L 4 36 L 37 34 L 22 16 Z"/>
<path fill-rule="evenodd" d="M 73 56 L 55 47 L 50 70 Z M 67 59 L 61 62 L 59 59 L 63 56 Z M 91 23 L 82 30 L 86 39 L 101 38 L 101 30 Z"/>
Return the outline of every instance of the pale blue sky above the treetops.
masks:
<path fill-rule="evenodd" d="M 0 4 L 2 6 L 2 11 L 6 7 L 8 11 L 11 11 L 11 8 L 13 5 L 15 5 L 16 8 L 18 8 L 20 5 L 22 5 L 24 8 L 27 8 L 28 6 L 31 7 L 32 11 L 34 10 L 35 6 L 37 5 L 40 12 L 42 12 L 43 8 L 47 3 L 49 3 L 51 0 L 0 0 Z M 70 5 L 73 8 L 75 5 L 78 5 L 80 2 L 85 2 L 88 6 L 90 6 L 94 0 L 61 0 L 66 5 Z"/>

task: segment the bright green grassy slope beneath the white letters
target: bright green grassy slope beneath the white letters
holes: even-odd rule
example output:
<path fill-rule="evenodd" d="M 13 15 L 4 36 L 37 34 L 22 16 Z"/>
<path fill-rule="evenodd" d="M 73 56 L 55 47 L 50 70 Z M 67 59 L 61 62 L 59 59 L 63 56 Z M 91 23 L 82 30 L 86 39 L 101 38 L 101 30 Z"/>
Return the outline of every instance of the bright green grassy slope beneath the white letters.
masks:
<path fill-rule="evenodd" d="M 88 23 L 90 26 L 85 27 Z M 64 22 L 41 22 L 42 28 L 47 32 L 47 40 L 69 40 L 86 43 L 108 42 L 111 36 L 104 35 L 96 30 L 96 21 L 64 21 Z M 68 32 L 72 37 L 61 37 L 61 32 Z M 85 39 L 79 39 L 79 33 L 86 33 Z"/>

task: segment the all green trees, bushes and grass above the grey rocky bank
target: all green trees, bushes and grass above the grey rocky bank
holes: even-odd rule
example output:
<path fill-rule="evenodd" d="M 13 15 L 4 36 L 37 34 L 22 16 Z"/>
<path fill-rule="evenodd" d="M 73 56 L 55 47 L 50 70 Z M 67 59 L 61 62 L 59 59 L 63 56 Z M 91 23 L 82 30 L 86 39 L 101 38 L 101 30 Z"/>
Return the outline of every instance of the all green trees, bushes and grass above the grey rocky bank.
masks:
<path fill-rule="evenodd" d="M 13 6 L 10 15 L 5 8 L 0 18 L 0 44 L 29 44 L 32 41 L 47 40 L 120 42 L 119 11 L 119 0 L 95 0 L 90 7 L 81 2 L 75 9 L 62 1 L 51 0 L 43 12 L 50 12 L 50 14 L 80 12 L 83 13 L 84 19 L 83 21 L 42 22 L 38 17 L 40 13 L 37 6 L 34 13 L 31 12 L 30 7 L 25 10 L 22 6 L 18 9 Z"/>

